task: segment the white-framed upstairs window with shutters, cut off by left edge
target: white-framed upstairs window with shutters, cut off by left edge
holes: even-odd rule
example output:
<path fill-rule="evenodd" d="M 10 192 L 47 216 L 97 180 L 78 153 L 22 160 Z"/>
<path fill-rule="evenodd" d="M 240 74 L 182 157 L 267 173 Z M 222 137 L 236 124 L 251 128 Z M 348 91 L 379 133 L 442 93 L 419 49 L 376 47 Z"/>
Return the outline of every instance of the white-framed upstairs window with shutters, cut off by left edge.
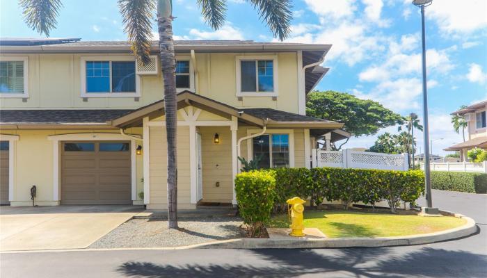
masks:
<path fill-rule="evenodd" d="M 0 97 L 28 97 L 27 58 L 0 58 Z"/>

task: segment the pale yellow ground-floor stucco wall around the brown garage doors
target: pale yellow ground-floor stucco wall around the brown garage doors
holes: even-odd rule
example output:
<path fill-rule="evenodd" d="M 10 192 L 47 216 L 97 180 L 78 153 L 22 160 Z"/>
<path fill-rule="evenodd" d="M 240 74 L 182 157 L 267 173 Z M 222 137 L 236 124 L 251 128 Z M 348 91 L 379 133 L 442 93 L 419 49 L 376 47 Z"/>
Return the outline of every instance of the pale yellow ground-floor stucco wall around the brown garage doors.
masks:
<path fill-rule="evenodd" d="M 14 194 L 12 206 L 29 206 L 32 204 L 30 189 L 37 187 L 35 202 L 38 205 L 56 205 L 54 201 L 53 178 L 53 142 L 47 136 L 67 133 L 116 133 L 113 130 L 1 130 L 2 134 L 17 135 L 13 149 L 14 160 Z M 141 129 L 129 129 L 127 133 L 141 134 Z M 136 141 L 142 145 L 142 141 Z M 136 193 L 143 190 L 142 156 L 136 156 Z M 59 194 L 61 196 L 61 193 Z M 138 198 L 138 196 L 137 196 Z"/>

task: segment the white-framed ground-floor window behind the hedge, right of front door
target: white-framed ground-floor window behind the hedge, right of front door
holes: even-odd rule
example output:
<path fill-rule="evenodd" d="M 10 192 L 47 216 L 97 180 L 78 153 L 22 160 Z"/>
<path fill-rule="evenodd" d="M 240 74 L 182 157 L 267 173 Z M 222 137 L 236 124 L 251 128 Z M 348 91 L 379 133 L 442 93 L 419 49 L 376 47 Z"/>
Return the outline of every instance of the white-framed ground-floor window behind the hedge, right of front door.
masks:
<path fill-rule="evenodd" d="M 253 138 L 253 158 L 259 167 L 289 167 L 289 134 L 264 134 Z"/>

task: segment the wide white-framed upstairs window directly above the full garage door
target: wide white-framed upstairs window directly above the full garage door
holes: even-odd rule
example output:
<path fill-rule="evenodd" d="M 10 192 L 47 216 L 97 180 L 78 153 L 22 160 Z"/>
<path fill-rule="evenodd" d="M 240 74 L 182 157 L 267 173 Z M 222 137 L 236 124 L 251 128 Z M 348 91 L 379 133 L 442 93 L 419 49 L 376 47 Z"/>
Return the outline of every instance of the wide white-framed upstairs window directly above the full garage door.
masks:
<path fill-rule="evenodd" d="M 138 97 L 138 79 L 133 58 L 102 60 L 83 57 L 81 97 Z"/>

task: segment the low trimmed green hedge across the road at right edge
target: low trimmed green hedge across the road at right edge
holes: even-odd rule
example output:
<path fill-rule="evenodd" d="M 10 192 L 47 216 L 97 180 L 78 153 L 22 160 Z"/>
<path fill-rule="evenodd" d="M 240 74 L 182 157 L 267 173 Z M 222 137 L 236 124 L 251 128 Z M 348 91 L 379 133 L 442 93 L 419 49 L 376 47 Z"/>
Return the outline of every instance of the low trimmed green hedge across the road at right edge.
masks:
<path fill-rule="evenodd" d="M 431 172 L 431 188 L 468 193 L 487 193 L 487 174 Z"/>

